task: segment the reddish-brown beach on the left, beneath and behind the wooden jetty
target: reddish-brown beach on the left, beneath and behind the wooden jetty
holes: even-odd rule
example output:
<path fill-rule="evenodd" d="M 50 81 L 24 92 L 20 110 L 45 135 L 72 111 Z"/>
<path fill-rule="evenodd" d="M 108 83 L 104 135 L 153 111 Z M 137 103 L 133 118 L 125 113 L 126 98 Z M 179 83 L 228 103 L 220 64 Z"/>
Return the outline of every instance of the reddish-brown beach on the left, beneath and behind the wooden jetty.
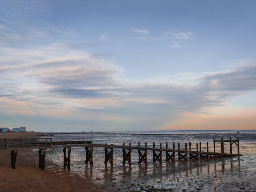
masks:
<path fill-rule="evenodd" d="M 35 138 L 44 133 L 0 133 L 1 139 Z M 0 150 L 0 191 L 107 191 L 46 159 L 38 168 L 31 149 L 17 151 L 16 169 L 11 169 L 11 151 Z"/>

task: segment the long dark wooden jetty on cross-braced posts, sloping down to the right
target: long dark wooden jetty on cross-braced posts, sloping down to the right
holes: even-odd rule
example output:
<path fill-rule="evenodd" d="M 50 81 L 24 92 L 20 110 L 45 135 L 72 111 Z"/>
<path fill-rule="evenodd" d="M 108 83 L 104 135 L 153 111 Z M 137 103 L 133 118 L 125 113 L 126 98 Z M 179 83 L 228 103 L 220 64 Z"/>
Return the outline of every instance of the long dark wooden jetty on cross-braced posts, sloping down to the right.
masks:
<path fill-rule="evenodd" d="M 220 143 L 221 152 L 216 152 L 216 144 Z M 228 153 L 224 150 L 224 143 L 229 144 Z M 237 146 L 237 154 L 233 154 L 232 145 L 235 144 Z M 47 149 L 51 148 L 63 148 L 63 168 L 67 167 L 70 170 L 70 154 L 72 147 L 85 147 L 86 155 L 85 155 L 85 165 L 88 167 L 88 163 L 90 163 L 90 168 L 92 170 L 93 166 L 93 149 L 94 147 L 100 147 L 105 149 L 105 167 L 107 168 L 108 163 L 113 169 L 113 149 L 122 149 L 123 151 L 123 165 L 126 162 L 131 167 L 132 165 L 132 150 L 138 150 L 138 164 L 142 162 L 147 166 L 148 165 L 148 151 L 152 151 L 153 153 L 153 162 L 158 162 L 162 164 L 162 153 L 165 152 L 166 158 L 165 161 L 175 162 L 175 155 L 178 155 L 178 160 L 188 161 L 189 159 L 199 159 L 199 158 L 210 158 L 210 157 L 225 157 L 225 156 L 241 156 L 239 153 L 239 138 L 236 140 L 232 140 L 231 138 L 228 140 L 224 140 L 221 138 L 220 140 L 213 139 L 213 151 L 209 151 L 209 143 L 206 143 L 206 151 L 202 150 L 202 143 L 196 143 L 196 149 L 192 150 L 191 143 L 185 143 L 185 150 L 181 150 L 180 143 L 178 143 L 178 147 L 175 147 L 175 142 L 172 142 L 172 148 L 168 147 L 168 143 L 165 143 L 165 148 L 162 147 L 162 143 L 159 143 L 159 148 L 155 148 L 155 142 L 153 142 L 153 148 L 148 148 L 148 144 L 145 143 L 144 146 L 140 145 L 138 142 L 138 146 L 132 146 L 131 143 L 127 146 L 125 143 L 123 145 L 113 145 L 113 144 L 93 144 L 91 141 L 68 141 L 68 142 L 52 142 L 52 138 L 30 138 L 30 139 L 0 139 L 0 150 L 11 150 L 11 167 L 15 169 L 15 162 L 17 156 L 17 150 L 21 149 L 38 149 L 39 150 L 39 168 L 44 170 L 45 167 L 45 154 Z M 68 149 L 68 156 L 66 156 L 66 149 Z"/>

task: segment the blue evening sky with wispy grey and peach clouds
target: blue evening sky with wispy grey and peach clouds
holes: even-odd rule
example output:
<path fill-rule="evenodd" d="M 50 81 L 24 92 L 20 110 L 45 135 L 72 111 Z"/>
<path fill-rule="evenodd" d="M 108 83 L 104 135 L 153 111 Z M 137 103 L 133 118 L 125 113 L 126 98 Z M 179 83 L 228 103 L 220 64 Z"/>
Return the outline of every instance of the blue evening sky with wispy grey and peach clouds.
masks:
<path fill-rule="evenodd" d="M 256 129 L 256 1 L 1 0 L 0 127 Z"/>

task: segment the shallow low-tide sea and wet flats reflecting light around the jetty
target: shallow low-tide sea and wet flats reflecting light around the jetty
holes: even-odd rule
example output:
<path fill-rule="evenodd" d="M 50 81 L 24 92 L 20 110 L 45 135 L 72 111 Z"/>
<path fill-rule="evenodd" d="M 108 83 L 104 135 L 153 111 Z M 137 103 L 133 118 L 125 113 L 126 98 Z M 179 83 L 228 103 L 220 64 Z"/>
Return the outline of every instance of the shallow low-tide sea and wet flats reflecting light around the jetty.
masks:
<path fill-rule="evenodd" d="M 148 151 L 148 166 L 138 164 L 138 150 L 132 150 L 132 166 L 123 166 L 122 149 L 113 151 L 113 169 L 110 164 L 105 168 L 105 149 L 94 147 L 93 169 L 85 167 L 86 151 L 84 147 L 71 148 L 71 172 L 100 185 L 102 191 L 256 191 L 256 130 L 182 130 L 182 131 L 147 131 L 147 132 L 73 132 L 48 133 L 52 141 L 92 141 L 94 144 L 113 144 L 126 146 L 145 146 L 162 148 L 168 143 L 172 149 L 185 150 L 185 143 L 191 143 L 191 150 L 196 150 L 196 143 L 202 143 L 202 151 L 213 151 L 213 139 L 237 140 L 239 137 L 240 154 L 235 157 L 210 157 L 188 161 L 165 161 L 166 154 L 162 153 L 162 164 L 153 162 L 153 152 Z M 224 152 L 229 153 L 230 143 L 224 143 Z M 220 152 L 220 143 L 216 143 L 216 152 Z M 232 145 L 233 154 L 238 153 L 238 146 Z M 63 167 L 63 149 L 47 149 L 46 158 Z M 51 167 L 46 165 L 46 169 Z"/>

